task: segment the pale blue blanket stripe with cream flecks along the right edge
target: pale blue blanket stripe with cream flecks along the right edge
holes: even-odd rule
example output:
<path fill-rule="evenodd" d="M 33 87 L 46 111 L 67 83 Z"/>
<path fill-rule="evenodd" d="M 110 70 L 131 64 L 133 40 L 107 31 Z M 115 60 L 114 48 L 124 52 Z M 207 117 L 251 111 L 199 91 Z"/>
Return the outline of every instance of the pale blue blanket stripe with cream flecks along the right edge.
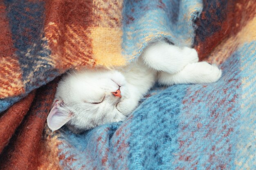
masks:
<path fill-rule="evenodd" d="M 242 56 L 241 95 L 237 104 L 240 106 L 239 119 L 235 124 L 234 164 L 236 169 L 255 169 L 256 163 L 256 41 L 246 43 L 236 53 Z M 254 167 L 254 168 L 253 168 Z M 234 168 L 234 169 L 235 169 Z"/>

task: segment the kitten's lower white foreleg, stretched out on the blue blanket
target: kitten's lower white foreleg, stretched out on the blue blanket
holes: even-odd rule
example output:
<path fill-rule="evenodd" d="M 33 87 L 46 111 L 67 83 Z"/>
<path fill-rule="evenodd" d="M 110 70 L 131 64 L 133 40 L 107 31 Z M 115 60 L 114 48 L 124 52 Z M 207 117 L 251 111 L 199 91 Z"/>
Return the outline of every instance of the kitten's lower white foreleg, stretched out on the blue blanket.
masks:
<path fill-rule="evenodd" d="M 189 83 L 213 83 L 218 81 L 221 70 L 216 65 L 207 62 L 187 64 L 182 71 L 170 74 L 161 72 L 158 75 L 160 84 L 189 84 Z"/>

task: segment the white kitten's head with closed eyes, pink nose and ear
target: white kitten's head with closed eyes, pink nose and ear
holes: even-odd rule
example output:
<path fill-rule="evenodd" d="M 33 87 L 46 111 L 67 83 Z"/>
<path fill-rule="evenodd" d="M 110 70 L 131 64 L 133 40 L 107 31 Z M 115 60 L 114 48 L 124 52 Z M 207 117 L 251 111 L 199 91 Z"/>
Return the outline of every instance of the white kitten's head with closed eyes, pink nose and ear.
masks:
<path fill-rule="evenodd" d="M 79 132 L 122 121 L 137 106 L 132 100 L 130 88 L 118 71 L 71 72 L 58 84 L 47 123 L 52 130 L 67 123 Z"/>

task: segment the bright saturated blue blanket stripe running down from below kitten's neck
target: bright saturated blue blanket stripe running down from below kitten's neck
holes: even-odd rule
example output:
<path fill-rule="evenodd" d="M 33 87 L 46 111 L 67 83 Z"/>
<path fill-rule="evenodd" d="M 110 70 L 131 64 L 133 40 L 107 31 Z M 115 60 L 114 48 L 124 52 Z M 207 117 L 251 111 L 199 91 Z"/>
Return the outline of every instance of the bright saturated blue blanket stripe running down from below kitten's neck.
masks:
<path fill-rule="evenodd" d="M 182 99 L 189 85 L 175 85 L 150 97 L 133 113 L 128 165 L 132 170 L 171 169 Z M 128 134 L 125 134 L 128 135 Z"/>

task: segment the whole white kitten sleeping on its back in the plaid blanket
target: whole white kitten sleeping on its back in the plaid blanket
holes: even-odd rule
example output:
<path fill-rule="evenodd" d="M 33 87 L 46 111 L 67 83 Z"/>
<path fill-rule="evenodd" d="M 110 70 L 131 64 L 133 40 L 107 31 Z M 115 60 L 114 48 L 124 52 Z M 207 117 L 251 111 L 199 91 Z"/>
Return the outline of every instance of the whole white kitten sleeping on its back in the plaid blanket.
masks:
<path fill-rule="evenodd" d="M 78 133 L 122 121 L 156 81 L 168 86 L 212 83 L 220 76 L 217 66 L 198 62 L 195 49 L 155 42 L 144 49 L 137 61 L 124 68 L 67 73 L 58 84 L 47 124 L 52 130 L 67 124 Z"/>

